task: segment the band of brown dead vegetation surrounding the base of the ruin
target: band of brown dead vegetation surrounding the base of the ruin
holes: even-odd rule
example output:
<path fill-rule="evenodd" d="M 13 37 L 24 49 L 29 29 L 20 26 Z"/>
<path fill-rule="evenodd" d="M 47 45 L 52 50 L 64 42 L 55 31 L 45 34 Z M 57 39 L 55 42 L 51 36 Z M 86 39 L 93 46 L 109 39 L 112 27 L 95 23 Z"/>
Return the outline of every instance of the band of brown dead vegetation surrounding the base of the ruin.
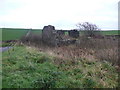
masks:
<path fill-rule="evenodd" d="M 75 44 L 51 47 L 42 42 L 41 35 L 31 34 L 21 39 L 24 44 L 36 47 L 39 51 L 46 52 L 52 56 L 57 56 L 60 60 L 75 61 L 85 58 L 92 61 L 106 60 L 113 65 L 118 64 L 118 40 L 118 38 L 112 37 L 104 37 L 102 39 L 79 37 Z"/>

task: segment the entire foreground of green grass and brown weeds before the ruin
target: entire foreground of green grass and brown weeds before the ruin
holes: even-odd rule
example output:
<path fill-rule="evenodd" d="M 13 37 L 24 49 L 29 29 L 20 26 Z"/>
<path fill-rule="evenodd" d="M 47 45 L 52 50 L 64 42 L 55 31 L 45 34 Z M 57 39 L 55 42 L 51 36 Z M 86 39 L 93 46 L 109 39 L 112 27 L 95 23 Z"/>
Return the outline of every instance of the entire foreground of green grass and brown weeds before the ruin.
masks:
<path fill-rule="evenodd" d="M 38 43 L 42 45 L 38 41 L 10 49 L 10 55 L 3 52 L 3 88 L 118 87 L 118 71 L 112 64 L 118 60 L 116 40 L 110 44 L 107 39 L 85 39 L 76 45 L 36 50 Z"/>

